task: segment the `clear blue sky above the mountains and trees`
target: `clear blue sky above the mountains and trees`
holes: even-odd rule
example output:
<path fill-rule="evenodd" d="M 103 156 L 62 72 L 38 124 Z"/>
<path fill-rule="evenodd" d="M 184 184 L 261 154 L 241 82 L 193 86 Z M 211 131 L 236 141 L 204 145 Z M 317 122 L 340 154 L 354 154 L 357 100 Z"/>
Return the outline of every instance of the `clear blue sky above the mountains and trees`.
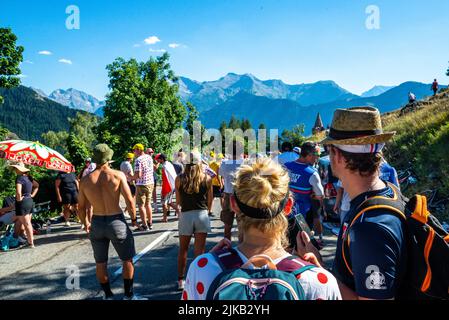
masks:
<path fill-rule="evenodd" d="M 449 82 L 447 0 L 0 1 L 0 26 L 25 47 L 23 84 L 47 94 L 73 87 L 103 98 L 108 63 L 158 50 L 171 54 L 177 75 L 199 81 L 252 73 L 289 84 L 334 80 L 356 94 Z M 66 28 L 69 5 L 80 9 L 79 30 Z M 369 5 L 380 10 L 380 29 L 365 26 Z"/>

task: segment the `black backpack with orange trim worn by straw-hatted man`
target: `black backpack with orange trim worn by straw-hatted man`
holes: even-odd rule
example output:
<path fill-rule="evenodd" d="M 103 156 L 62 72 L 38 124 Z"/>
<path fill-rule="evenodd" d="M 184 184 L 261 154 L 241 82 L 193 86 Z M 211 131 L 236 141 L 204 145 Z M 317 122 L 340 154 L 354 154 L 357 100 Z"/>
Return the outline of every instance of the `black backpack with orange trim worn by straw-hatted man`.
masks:
<path fill-rule="evenodd" d="M 407 264 L 397 299 L 449 300 L 449 234 L 440 221 L 427 210 L 427 199 L 415 195 L 410 200 L 392 184 L 393 198 L 376 196 L 364 201 L 358 214 L 345 231 L 342 255 L 348 271 L 353 274 L 349 259 L 349 229 L 367 211 L 386 209 L 406 224 Z"/>

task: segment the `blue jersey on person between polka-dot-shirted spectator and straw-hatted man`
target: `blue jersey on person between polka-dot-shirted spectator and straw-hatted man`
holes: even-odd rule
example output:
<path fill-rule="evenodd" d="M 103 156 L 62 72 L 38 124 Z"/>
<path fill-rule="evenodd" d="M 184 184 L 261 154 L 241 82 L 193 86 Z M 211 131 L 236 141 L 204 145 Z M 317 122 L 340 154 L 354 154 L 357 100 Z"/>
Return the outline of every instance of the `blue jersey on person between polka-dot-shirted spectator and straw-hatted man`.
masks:
<path fill-rule="evenodd" d="M 295 199 L 295 207 L 292 214 L 297 215 L 301 213 L 306 216 L 306 213 L 312 207 L 313 188 L 309 181 L 316 170 L 308 164 L 296 161 L 288 162 L 284 166 L 289 172 L 290 191 Z"/>

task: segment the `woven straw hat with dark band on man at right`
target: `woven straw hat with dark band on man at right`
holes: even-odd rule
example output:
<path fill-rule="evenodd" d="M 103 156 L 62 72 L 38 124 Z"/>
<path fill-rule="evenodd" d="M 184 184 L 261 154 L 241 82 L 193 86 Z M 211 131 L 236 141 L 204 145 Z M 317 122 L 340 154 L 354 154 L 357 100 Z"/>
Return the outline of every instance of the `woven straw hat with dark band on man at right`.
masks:
<path fill-rule="evenodd" d="M 322 144 L 366 145 L 385 143 L 396 132 L 383 132 L 380 112 L 373 107 L 337 109 L 329 136 Z"/>

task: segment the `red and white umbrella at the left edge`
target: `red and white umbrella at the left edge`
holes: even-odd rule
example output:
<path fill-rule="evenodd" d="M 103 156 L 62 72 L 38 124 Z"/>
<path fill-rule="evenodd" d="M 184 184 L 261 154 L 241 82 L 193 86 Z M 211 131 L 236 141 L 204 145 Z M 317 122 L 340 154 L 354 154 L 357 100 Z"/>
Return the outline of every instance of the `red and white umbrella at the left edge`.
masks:
<path fill-rule="evenodd" d="M 75 172 L 75 167 L 63 155 L 39 142 L 2 141 L 0 158 L 49 170 Z"/>

